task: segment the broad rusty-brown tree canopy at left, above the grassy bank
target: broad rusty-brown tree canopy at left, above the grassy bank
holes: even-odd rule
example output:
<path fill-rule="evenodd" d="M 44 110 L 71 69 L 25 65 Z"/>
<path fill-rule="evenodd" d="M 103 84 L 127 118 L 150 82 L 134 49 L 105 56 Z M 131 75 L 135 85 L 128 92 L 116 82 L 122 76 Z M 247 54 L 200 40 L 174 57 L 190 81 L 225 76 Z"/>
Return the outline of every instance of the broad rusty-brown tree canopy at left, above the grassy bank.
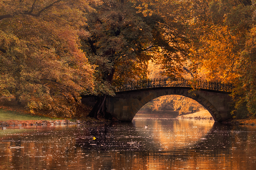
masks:
<path fill-rule="evenodd" d="M 80 50 L 88 1 L 0 1 L 0 95 L 53 115 L 75 112 L 93 89 L 93 67 Z"/>

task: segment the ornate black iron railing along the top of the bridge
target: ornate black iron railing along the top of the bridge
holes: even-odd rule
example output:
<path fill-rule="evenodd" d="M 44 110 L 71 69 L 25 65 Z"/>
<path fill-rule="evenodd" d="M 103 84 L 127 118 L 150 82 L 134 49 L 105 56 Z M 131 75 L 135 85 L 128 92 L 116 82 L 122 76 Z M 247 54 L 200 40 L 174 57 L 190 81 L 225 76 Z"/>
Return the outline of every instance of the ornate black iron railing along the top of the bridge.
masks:
<path fill-rule="evenodd" d="M 216 90 L 222 92 L 232 92 L 234 88 L 233 83 L 220 82 L 220 81 L 210 81 L 202 79 L 192 79 L 192 78 L 149 78 L 143 80 L 136 80 L 131 82 L 126 82 L 120 86 L 116 86 L 116 92 L 128 91 L 128 90 L 138 90 L 145 88 L 156 88 L 156 87 L 188 87 L 195 89 L 207 89 Z"/>

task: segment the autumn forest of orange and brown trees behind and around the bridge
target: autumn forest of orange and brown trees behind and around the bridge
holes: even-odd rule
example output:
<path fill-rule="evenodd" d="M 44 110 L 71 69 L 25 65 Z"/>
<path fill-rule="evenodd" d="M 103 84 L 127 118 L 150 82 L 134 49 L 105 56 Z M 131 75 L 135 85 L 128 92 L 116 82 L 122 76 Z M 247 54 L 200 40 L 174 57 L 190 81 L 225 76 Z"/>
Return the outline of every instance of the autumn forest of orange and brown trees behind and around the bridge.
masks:
<path fill-rule="evenodd" d="M 0 96 L 72 117 L 96 95 L 97 118 L 153 63 L 154 76 L 234 82 L 232 114 L 255 117 L 255 40 L 254 0 L 0 0 Z"/>

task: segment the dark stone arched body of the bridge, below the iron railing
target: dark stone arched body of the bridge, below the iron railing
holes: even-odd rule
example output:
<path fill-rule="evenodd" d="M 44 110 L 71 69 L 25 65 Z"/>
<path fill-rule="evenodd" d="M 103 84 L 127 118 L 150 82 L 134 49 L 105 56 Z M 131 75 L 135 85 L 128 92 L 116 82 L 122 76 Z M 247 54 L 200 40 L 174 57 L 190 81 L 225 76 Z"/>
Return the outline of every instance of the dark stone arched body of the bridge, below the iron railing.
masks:
<path fill-rule="evenodd" d="M 192 91 L 187 87 L 157 87 L 117 92 L 107 99 L 108 112 L 121 121 L 132 121 L 135 114 L 149 101 L 164 95 L 183 95 L 203 105 L 213 119 L 221 122 L 231 118 L 231 97 L 227 92 L 213 90 Z"/>

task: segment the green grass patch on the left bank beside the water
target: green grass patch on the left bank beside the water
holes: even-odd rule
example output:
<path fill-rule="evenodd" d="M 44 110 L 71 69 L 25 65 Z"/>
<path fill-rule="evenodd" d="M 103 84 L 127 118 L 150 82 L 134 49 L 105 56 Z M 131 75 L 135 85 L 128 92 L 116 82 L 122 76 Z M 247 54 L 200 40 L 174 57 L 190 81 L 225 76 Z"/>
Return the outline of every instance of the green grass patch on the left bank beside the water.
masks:
<path fill-rule="evenodd" d="M 37 116 L 31 114 L 22 114 L 16 111 L 8 111 L 0 109 L 0 121 L 7 120 L 55 120 L 54 118 L 49 118 L 45 116 Z"/>

